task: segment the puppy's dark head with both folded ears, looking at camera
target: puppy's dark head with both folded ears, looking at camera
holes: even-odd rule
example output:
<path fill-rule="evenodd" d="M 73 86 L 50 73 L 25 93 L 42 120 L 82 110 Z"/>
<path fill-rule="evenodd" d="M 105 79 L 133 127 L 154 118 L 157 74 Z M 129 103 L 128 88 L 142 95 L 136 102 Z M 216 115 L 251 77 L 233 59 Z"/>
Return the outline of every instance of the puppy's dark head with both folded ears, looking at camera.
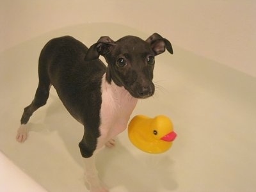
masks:
<path fill-rule="evenodd" d="M 108 63 L 106 81 L 113 81 L 131 93 L 132 97 L 144 99 L 155 92 L 153 70 L 155 56 L 167 49 L 173 54 L 172 44 L 154 33 L 147 40 L 136 36 L 124 36 L 116 42 L 102 36 L 86 52 L 85 61 L 95 60 L 100 55 Z"/>

